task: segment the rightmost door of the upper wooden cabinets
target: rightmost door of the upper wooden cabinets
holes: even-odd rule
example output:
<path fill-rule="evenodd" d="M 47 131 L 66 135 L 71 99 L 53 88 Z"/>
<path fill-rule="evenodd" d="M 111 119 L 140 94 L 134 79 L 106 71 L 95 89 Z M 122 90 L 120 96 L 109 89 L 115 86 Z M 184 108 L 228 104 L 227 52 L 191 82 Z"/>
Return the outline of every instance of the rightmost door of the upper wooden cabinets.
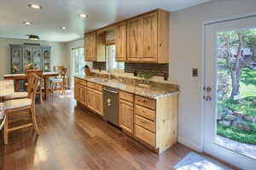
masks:
<path fill-rule="evenodd" d="M 141 20 L 143 61 L 157 62 L 157 12 L 145 14 Z"/>

